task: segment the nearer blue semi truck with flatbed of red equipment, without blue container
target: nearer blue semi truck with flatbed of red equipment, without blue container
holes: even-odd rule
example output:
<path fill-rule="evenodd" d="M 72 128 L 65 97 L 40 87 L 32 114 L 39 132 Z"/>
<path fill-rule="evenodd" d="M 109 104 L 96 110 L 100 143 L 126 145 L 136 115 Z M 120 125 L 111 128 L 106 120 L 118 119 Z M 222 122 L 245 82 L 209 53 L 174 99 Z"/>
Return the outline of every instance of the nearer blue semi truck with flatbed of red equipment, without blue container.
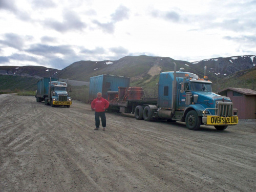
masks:
<path fill-rule="evenodd" d="M 173 72 L 160 73 L 158 98 L 145 98 L 142 88 L 120 88 L 108 92 L 108 111 L 132 113 L 145 121 L 181 121 L 189 130 L 198 130 L 201 124 L 217 130 L 238 124 L 238 110 L 230 98 L 213 93 L 211 84 L 206 76 L 176 72 L 175 64 Z"/>

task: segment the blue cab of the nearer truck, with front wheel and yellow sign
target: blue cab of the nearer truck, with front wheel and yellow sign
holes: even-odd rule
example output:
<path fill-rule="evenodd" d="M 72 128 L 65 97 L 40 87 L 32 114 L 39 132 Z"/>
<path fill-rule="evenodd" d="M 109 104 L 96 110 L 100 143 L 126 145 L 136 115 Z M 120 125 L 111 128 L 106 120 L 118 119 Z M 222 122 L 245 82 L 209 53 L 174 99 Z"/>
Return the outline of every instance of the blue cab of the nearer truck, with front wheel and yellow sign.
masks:
<path fill-rule="evenodd" d="M 186 122 L 191 130 L 199 129 L 201 124 L 214 125 L 217 130 L 236 125 L 237 110 L 233 109 L 230 98 L 212 92 L 211 85 L 206 76 L 199 78 L 188 72 L 161 73 L 158 116 Z M 173 113 L 166 110 L 173 110 Z"/>

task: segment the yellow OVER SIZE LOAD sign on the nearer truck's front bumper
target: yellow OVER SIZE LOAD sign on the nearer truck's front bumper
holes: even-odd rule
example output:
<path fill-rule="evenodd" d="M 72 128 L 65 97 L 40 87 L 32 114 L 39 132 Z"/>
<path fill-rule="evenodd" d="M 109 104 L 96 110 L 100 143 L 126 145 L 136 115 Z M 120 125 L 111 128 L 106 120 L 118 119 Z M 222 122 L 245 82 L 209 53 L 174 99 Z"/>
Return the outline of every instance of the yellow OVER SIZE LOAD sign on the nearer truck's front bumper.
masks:
<path fill-rule="evenodd" d="M 219 117 L 219 116 L 207 116 L 207 125 L 232 125 L 238 124 L 238 116 L 233 117 Z"/>

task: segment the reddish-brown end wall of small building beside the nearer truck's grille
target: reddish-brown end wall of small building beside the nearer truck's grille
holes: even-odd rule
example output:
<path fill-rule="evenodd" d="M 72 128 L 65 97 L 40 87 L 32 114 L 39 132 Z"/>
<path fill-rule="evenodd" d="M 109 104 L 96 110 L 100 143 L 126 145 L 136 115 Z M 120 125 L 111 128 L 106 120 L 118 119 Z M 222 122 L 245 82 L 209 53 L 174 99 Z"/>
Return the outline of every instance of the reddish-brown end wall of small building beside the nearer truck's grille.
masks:
<path fill-rule="evenodd" d="M 233 91 L 227 91 L 227 97 L 229 97 L 233 103 L 233 109 L 238 109 L 238 118 L 239 119 L 247 119 L 246 115 L 246 95 L 242 94 L 242 96 L 233 96 Z M 255 113 L 255 112 L 254 112 Z"/>

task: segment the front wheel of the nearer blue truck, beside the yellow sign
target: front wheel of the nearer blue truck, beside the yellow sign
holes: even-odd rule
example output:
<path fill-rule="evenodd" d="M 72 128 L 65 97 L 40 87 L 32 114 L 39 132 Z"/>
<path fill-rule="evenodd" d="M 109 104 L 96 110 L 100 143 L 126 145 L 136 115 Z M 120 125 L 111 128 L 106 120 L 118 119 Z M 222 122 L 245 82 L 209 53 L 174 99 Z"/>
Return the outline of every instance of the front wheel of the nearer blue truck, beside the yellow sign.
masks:
<path fill-rule="evenodd" d="M 197 112 L 192 110 L 186 115 L 186 126 L 189 130 L 198 130 L 202 122 L 202 118 L 198 117 Z"/>

